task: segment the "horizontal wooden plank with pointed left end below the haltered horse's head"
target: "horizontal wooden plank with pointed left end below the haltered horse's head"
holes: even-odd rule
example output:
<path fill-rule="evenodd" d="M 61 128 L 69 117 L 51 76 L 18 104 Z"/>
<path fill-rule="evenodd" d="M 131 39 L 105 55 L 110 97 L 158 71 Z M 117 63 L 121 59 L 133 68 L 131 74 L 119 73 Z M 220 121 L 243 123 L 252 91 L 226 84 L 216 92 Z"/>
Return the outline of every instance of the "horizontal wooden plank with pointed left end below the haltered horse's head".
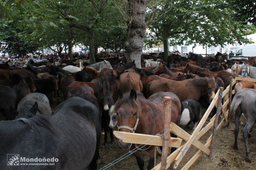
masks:
<path fill-rule="evenodd" d="M 154 136 L 154 135 L 135 134 L 135 133 L 121 132 L 121 131 L 114 131 L 113 134 L 116 136 L 116 138 L 122 140 L 122 142 L 124 143 L 136 143 L 136 144 L 149 143 L 149 145 L 155 145 L 155 146 L 162 146 L 162 143 L 163 143 L 163 139 L 161 137 Z M 148 140 L 149 138 L 151 139 Z M 180 138 L 171 137 L 169 140 L 169 147 L 178 148 L 180 147 L 181 142 L 182 140 Z"/>

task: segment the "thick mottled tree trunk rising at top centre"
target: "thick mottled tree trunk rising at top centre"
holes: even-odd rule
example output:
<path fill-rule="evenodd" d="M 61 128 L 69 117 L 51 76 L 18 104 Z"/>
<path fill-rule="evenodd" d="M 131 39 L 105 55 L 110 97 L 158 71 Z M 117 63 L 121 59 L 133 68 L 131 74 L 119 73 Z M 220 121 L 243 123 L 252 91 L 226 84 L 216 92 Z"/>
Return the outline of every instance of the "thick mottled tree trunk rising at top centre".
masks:
<path fill-rule="evenodd" d="M 143 40 L 146 36 L 146 7 L 149 0 L 128 0 L 130 20 L 128 25 L 128 40 L 125 44 L 127 62 L 135 60 L 137 68 L 141 68 L 140 58 Z"/>

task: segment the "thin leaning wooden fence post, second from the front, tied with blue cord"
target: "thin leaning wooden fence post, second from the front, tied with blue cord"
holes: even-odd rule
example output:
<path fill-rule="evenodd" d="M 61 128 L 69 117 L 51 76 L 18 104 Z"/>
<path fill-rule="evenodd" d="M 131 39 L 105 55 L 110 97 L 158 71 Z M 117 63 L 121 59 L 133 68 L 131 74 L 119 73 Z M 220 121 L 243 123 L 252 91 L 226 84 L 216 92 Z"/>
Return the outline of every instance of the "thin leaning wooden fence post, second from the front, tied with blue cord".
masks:
<path fill-rule="evenodd" d="M 217 105 L 217 112 L 216 112 L 216 116 L 215 116 L 215 122 L 214 122 L 214 126 L 213 126 L 213 132 L 212 132 L 212 141 L 211 141 L 211 147 L 210 147 L 210 154 L 209 154 L 209 158 L 212 158 L 212 150 L 213 150 L 213 143 L 215 140 L 215 136 L 216 136 L 216 129 L 217 129 L 217 125 L 218 125 L 218 120 L 219 120 L 219 114 L 220 114 L 220 109 L 221 109 L 221 105 L 222 105 L 222 92 L 223 92 L 223 87 L 219 88 L 219 97 L 218 97 L 218 105 Z M 226 114 L 226 113 L 223 113 Z"/>

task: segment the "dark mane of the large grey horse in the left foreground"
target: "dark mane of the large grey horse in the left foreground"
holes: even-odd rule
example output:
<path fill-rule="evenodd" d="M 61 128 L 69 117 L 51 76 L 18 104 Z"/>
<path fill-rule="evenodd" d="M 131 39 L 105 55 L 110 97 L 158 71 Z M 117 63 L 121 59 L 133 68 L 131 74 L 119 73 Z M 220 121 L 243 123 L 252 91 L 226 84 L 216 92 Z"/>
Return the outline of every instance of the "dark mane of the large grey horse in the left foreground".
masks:
<path fill-rule="evenodd" d="M 55 129 L 52 127 L 51 123 L 47 120 L 47 117 L 45 115 L 35 115 L 31 118 L 19 118 L 18 121 L 21 121 L 25 123 L 29 128 L 32 130 L 39 130 L 39 127 L 44 127 L 51 131 L 52 133 L 55 133 Z"/>

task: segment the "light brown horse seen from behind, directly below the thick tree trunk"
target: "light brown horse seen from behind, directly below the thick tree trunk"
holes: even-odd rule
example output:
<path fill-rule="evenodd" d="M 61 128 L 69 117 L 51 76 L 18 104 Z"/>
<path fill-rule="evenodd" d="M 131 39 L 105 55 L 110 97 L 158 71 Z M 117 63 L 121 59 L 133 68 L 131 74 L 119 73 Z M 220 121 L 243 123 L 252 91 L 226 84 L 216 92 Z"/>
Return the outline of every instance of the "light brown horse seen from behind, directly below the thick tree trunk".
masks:
<path fill-rule="evenodd" d="M 120 90 L 122 93 L 129 92 L 131 89 L 135 89 L 137 92 L 143 90 L 140 75 L 135 73 L 134 70 L 120 75 Z"/>

